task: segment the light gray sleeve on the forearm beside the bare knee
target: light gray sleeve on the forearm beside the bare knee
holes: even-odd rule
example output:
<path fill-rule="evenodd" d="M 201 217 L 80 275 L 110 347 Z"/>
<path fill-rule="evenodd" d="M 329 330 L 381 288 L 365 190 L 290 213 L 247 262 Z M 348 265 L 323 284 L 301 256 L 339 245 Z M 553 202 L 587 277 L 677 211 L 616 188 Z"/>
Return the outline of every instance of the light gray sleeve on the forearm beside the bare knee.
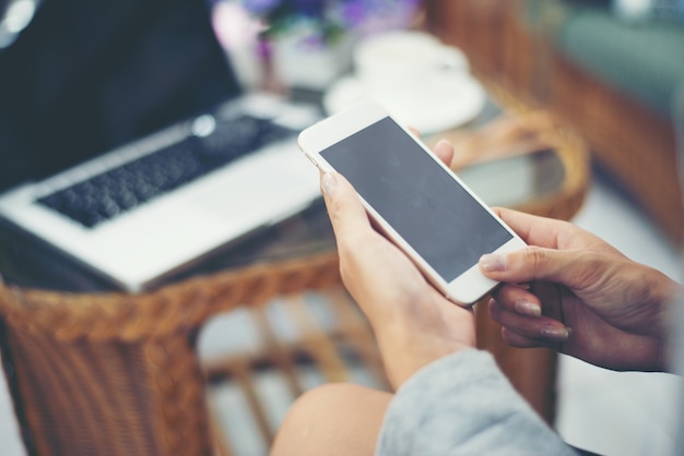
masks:
<path fill-rule="evenodd" d="M 486 351 L 421 369 L 390 403 L 376 456 L 574 455 Z"/>

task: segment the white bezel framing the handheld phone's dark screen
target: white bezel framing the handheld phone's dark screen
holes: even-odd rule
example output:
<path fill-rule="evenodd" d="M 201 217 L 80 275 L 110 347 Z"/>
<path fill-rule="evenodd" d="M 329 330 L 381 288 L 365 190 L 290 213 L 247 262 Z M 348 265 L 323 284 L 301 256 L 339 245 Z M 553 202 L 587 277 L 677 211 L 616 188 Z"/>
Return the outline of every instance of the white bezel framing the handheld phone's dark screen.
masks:
<path fill-rule="evenodd" d="M 359 130 L 363 130 L 387 117 L 397 123 L 397 125 L 399 125 L 399 128 L 426 154 L 428 154 L 428 156 L 433 158 L 438 166 L 447 170 L 449 176 L 451 176 L 459 185 L 461 185 L 491 214 L 491 216 L 499 225 L 502 225 L 511 235 L 511 239 L 502 244 L 494 252 L 483 253 L 506 253 L 521 249 L 526 245 L 515 231 L 512 231 L 494 212 L 492 212 L 492 209 L 476 194 L 474 194 L 472 190 L 470 190 L 448 166 L 446 166 L 429 148 L 427 148 L 420 141 L 420 139 L 411 132 L 411 130 L 402 125 L 401 122 L 392 117 L 391 113 L 379 104 L 363 103 L 307 128 L 298 136 L 299 148 L 321 172 L 334 171 L 334 168 L 323 158 L 323 156 L 320 155 L 320 153 L 333 144 L 358 132 Z M 375 221 L 376 226 L 386 237 L 404 251 L 404 253 L 422 271 L 426 279 L 429 280 L 443 295 L 445 295 L 447 299 L 458 304 L 469 307 L 477 302 L 477 300 L 480 300 L 497 285 L 496 281 L 485 277 L 480 272 L 476 263 L 451 281 L 445 280 L 433 268 L 433 266 L 425 259 L 423 259 L 423 256 L 421 256 L 415 249 L 413 249 L 413 247 L 409 244 L 370 204 L 365 201 L 363 196 L 359 195 L 359 197 L 366 208 L 366 212 Z"/>

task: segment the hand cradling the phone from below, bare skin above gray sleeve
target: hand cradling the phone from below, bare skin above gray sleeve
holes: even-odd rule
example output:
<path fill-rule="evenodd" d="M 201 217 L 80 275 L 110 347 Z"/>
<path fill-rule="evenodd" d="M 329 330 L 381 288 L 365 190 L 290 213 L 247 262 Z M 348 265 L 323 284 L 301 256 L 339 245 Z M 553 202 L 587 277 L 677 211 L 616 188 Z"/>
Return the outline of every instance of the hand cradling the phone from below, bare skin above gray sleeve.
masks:
<path fill-rule="evenodd" d="M 436 146 L 450 160 L 448 143 Z M 446 300 L 409 257 L 375 231 L 342 176 L 326 173 L 321 189 L 340 254 L 342 280 L 376 334 L 394 388 L 420 368 L 475 346 L 474 315 Z"/>

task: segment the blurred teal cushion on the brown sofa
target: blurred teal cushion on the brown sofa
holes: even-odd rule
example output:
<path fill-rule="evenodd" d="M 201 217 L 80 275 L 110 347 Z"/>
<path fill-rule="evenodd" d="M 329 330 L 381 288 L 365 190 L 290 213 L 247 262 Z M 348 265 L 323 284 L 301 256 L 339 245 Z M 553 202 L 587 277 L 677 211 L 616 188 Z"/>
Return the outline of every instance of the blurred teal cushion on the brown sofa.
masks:
<path fill-rule="evenodd" d="M 543 3 L 543 4 L 542 4 Z M 610 2 L 530 0 L 526 19 L 589 74 L 668 116 L 684 81 L 684 22 L 625 21 Z"/>

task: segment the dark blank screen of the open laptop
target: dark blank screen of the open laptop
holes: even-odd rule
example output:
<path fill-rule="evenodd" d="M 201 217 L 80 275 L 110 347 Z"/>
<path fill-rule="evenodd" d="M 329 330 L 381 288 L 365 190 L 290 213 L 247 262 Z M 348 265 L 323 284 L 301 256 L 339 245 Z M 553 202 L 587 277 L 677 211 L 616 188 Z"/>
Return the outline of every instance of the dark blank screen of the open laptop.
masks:
<path fill-rule="evenodd" d="M 0 191 L 239 92 L 204 0 L 44 0 L 0 51 Z"/>

